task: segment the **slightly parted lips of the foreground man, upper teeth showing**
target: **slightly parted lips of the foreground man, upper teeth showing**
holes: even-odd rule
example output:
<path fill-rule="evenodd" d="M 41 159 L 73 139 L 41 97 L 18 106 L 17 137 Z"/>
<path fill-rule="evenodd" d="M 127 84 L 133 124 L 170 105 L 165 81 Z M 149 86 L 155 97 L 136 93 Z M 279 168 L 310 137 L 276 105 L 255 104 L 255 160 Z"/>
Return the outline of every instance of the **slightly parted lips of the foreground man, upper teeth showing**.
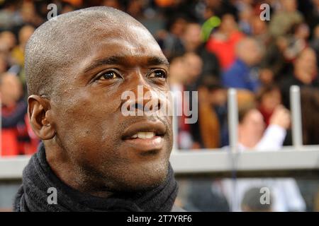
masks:
<path fill-rule="evenodd" d="M 139 151 L 160 150 L 163 148 L 163 136 L 166 126 L 159 120 L 140 121 L 125 129 L 122 139 Z"/>

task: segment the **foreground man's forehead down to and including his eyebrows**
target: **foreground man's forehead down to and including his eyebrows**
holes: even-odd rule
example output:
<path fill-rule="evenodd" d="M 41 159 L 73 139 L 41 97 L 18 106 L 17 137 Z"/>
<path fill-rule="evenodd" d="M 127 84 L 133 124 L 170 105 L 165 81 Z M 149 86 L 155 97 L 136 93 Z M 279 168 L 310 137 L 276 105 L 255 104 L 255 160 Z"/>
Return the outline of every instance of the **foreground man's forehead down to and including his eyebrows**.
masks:
<path fill-rule="evenodd" d="M 162 49 L 150 32 L 135 25 L 128 29 L 123 28 L 121 31 L 109 28 L 93 29 L 90 38 L 82 37 L 82 41 L 78 41 L 73 42 L 74 47 L 69 46 L 68 53 L 74 58 L 74 61 L 70 62 L 72 68 L 75 66 L 77 68 L 75 71 L 78 73 L 103 64 L 168 66 Z"/>

